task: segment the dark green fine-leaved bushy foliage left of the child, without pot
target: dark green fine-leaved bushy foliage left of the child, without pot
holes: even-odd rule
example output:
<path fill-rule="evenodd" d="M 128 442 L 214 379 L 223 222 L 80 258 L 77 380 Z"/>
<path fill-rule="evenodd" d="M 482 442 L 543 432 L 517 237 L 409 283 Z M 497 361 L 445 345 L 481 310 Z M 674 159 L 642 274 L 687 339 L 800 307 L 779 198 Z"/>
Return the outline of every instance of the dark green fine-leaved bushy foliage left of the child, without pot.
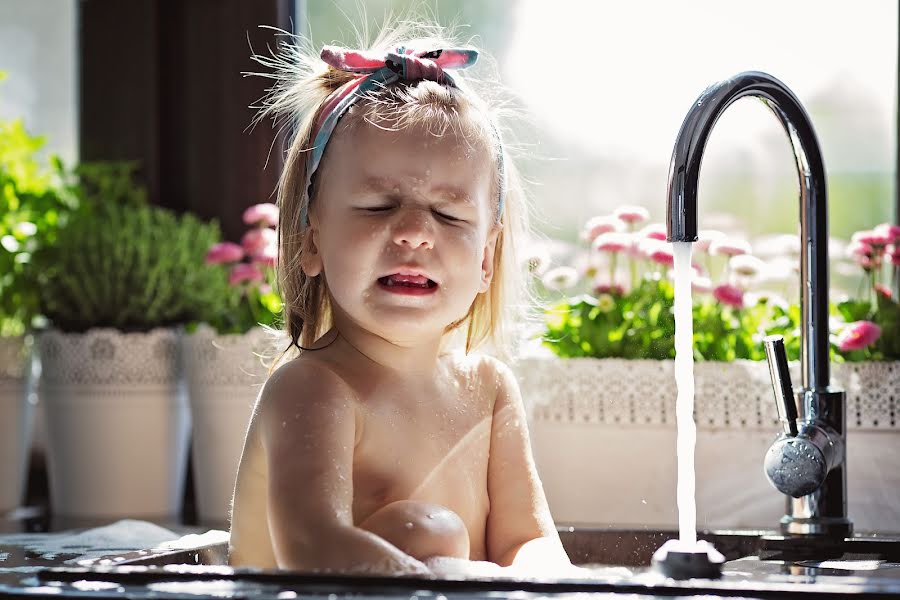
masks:
<path fill-rule="evenodd" d="M 203 263 L 218 225 L 147 204 L 133 170 L 78 170 L 80 205 L 40 262 L 41 309 L 55 327 L 147 331 L 222 310 L 226 273 Z"/>

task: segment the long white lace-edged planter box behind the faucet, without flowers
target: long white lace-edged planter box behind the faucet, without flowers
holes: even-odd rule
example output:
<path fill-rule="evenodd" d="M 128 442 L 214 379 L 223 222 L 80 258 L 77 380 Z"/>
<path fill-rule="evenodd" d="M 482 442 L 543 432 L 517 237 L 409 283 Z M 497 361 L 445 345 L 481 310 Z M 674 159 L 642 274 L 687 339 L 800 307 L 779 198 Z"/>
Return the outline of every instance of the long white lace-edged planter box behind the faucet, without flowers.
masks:
<path fill-rule="evenodd" d="M 677 526 L 673 361 L 531 357 L 516 371 L 557 521 Z M 698 362 L 694 375 L 698 526 L 776 528 L 767 364 Z M 859 531 L 900 532 L 900 362 L 832 364 L 832 385 L 847 392 L 849 516 Z"/>

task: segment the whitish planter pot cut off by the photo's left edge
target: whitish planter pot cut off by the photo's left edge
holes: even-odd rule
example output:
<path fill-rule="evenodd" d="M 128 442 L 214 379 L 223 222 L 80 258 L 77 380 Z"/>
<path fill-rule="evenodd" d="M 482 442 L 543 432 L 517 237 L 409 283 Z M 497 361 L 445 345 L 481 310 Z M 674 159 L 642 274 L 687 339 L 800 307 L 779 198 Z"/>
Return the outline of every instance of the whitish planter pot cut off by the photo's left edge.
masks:
<path fill-rule="evenodd" d="M 0 337 L 0 515 L 22 503 L 34 404 L 31 340 Z"/>

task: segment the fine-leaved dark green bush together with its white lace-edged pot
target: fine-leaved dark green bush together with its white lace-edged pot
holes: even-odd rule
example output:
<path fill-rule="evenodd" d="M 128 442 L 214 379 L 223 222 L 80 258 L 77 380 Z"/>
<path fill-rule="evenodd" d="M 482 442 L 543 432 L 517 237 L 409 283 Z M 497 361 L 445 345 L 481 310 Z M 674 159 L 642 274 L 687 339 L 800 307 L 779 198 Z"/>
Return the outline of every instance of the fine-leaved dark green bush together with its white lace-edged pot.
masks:
<path fill-rule="evenodd" d="M 55 515 L 176 517 L 190 419 L 180 327 L 224 293 L 216 224 L 147 203 L 134 165 L 78 170 L 78 209 L 40 261 L 41 401 Z"/>

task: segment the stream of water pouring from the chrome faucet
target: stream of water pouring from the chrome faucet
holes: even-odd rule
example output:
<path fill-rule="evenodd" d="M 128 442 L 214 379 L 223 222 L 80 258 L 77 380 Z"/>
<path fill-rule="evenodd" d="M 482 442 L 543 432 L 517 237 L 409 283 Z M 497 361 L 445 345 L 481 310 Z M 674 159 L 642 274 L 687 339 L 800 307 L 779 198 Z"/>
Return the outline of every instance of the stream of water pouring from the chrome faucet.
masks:
<path fill-rule="evenodd" d="M 678 531 L 683 544 L 697 542 L 697 506 L 694 496 L 694 316 L 691 311 L 691 242 L 673 242 L 675 255 L 675 384 L 678 399 Z"/>

